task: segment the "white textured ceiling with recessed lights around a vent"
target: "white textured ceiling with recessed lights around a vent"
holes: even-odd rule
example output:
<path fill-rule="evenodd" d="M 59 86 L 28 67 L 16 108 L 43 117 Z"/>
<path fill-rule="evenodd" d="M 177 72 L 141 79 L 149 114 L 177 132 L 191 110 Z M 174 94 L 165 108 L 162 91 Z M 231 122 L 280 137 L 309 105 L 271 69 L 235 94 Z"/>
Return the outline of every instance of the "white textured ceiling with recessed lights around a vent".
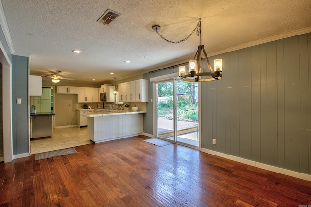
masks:
<path fill-rule="evenodd" d="M 31 74 L 60 70 L 97 83 L 193 58 L 200 38 L 172 44 L 202 18 L 207 53 L 311 27 L 311 0 L 1 0 L 14 54 L 31 55 Z M 96 22 L 107 9 L 121 13 Z M 72 50 L 81 50 L 75 54 Z M 130 60 L 127 64 L 124 61 Z M 109 74 L 114 72 L 114 75 Z"/>

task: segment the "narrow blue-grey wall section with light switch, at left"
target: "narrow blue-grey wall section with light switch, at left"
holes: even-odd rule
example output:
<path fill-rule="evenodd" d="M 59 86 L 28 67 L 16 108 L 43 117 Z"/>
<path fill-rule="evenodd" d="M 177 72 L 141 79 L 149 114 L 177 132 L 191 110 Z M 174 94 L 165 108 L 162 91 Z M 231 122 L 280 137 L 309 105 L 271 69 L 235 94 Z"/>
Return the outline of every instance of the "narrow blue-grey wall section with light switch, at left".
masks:
<path fill-rule="evenodd" d="M 21 104 L 16 99 L 21 98 Z M 29 152 L 28 57 L 12 57 L 12 142 L 13 155 Z"/>

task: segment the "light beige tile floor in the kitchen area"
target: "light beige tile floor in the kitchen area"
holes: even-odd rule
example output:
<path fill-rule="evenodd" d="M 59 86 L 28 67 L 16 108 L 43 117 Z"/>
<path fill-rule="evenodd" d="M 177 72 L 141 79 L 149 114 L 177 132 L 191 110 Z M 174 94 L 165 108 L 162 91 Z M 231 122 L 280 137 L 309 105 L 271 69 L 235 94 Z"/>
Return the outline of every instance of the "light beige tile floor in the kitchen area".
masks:
<path fill-rule="evenodd" d="M 30 141 L 30 154 L 49 152 L 93 143 L 87 138 L 87 127 L 54 129 L 51 138 Z"/>

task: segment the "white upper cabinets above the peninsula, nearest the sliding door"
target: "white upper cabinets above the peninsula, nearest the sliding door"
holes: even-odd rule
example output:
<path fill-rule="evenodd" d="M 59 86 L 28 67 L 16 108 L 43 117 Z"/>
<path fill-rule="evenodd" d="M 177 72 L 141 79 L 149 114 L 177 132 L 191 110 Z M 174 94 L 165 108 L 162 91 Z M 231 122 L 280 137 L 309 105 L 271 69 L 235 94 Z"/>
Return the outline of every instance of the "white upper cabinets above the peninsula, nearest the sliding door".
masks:
<path fill-rule="evenodd" d="M 148 102 L 148 80 L 139 79 L 119 84 L 119 100 L 123 102 Z"/>

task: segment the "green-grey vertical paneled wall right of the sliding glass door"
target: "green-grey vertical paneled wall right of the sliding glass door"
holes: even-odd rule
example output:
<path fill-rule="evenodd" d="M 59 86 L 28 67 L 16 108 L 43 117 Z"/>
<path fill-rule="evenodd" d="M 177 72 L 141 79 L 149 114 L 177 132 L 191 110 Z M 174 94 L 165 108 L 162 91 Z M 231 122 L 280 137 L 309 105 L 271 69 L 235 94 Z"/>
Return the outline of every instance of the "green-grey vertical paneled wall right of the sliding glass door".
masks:
<path fill-rule="evenodd" d="M 311 34 L 216 58 L 223 79 L 201 85 L 202 147 L 311 174 Z"/>

